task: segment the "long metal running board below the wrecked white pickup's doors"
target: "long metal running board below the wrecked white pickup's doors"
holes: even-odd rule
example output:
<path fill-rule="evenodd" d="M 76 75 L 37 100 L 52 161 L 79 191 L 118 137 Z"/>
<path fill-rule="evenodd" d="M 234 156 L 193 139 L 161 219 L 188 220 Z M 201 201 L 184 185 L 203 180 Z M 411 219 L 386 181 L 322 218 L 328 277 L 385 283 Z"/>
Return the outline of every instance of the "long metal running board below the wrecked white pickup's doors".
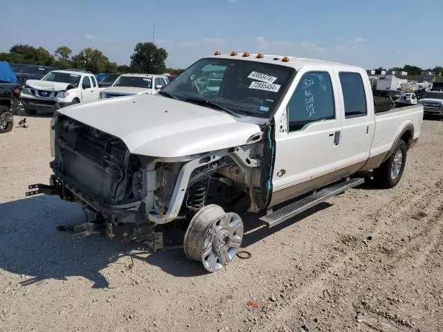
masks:
<path fill-rule="evenodd" d="M 332 185 L 330 187 L 325 187 L 319 192 L 311 194 L 311 196 L 307 196 L 304 199 L 300 199 L 300 201 L 291 203 L 284 208 L 281 208 L 280 210 L 272 212 L 271 214 L 262 216 L 260 220 L 268 225 L 269 228 L 272 228 L 282 223 L 283 221 L 287 221 L 293 216 L 296 216 L 297 214 L 300 214 L 312 208 L 319 203 L 323 203 L 330 197 L 341 194 L 342 192 L 345 192 L 345 190 L 356 187 L 357 185 L 361 185 L 364 182 L 364 178 L 353 178 L 351 180 L 347 180 L 345 182 Z"/>

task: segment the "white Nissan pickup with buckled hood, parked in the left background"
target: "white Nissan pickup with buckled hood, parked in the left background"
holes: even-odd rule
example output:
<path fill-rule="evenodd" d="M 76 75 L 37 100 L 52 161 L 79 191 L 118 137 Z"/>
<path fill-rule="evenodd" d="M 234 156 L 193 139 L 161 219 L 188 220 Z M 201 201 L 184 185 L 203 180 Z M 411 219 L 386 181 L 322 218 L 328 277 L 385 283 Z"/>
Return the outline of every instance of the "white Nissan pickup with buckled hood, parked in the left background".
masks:
<path fill-rule="evenodd" d="M 86 71 L 51 71 L 42 80 L 27 80 L 20 101 L 28 115 L 37 111 L 54 113 L 79 102 L 98 100 L 96 77 Z"/>

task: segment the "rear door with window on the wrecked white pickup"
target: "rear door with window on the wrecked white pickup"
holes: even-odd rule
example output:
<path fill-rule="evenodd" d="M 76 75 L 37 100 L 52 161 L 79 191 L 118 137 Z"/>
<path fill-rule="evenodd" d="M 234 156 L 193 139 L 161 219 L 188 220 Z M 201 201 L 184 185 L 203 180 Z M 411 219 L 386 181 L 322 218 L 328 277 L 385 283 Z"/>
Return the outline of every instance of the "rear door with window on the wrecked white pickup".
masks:
<path fill-rule="evenodd" d="M 372 100 L 367 98 L 372 90 L 368 80 L 361 73 L 337 71 L 340 89 L 341 122 L 341 167 L 364 164 L 369 157 L 374 136 L 374 114 L 370 112 Z M 363 165 L 361 165 L 363 166 Z"/>

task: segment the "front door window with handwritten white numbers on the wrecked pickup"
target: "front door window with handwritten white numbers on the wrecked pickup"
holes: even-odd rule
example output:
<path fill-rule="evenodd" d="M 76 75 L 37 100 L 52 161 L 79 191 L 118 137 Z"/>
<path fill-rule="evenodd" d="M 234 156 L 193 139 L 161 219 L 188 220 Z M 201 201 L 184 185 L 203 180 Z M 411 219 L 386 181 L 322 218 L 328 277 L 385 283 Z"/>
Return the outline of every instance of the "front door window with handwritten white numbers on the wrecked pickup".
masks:
<path fill-rule="evenodd" d="M 302 130 L 311 122 L 334 118 L 334 93 L 329 73 L 305 73 L 288 104 L 289 131 Z"/>

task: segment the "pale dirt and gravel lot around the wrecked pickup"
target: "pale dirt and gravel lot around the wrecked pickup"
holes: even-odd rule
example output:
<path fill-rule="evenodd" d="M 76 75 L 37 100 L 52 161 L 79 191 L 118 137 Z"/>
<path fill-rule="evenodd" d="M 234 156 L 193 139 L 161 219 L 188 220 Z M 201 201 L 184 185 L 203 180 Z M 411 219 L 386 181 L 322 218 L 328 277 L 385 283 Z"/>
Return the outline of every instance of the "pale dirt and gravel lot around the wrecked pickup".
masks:
<path fill-rule="evenodd" d="M 443 331 L 443 121 L 424 121 L 397 187 L 247 232 L 252 257 L 215 274 L 183 250 L 57 232 L 85 215 L 24 198 L 51 160 L 49 118 L 28 124 L 0 136 L 0 331 Z"/>

